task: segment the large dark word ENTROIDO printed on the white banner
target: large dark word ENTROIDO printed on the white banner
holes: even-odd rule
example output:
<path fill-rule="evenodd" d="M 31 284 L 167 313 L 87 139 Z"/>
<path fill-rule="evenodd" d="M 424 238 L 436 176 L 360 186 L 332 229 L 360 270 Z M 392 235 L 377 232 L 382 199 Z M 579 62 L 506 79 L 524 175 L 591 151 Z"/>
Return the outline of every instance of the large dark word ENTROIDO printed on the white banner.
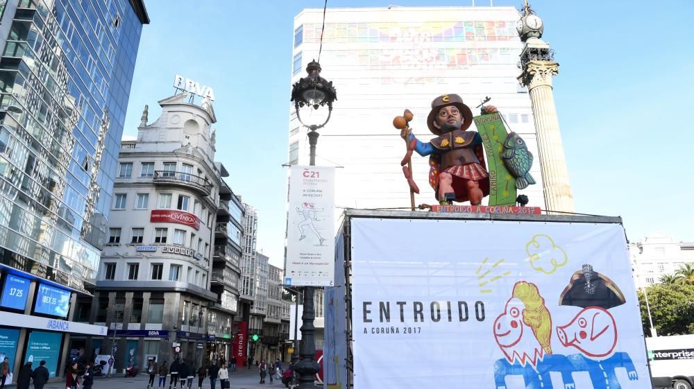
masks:
<path fill-rule="evenodd" d="M 378 317 L 375 313 L 371 313 L 372 309 L 376 309 L 375 304 L 378 304 Z M 443 321 L 459 321 L 466 322 L 471 315 L 478 322 L 484 321 L 484 302 L 477 301 L 474 305 L 468 307 L 466 301 L 432 301 L 428 305 L 428 318 L 425 319 L 425 304 L 421 301 L 396 301 L 391 304 L 389 301 L 371 302 L 365 301 L 362 304 L 363 322 L 371 323 L 373 320 L 379 322 L 391 322 L 391 313 L 393 321 L 400 319 L 400 322 L 405 322 L 405 317 L 408 321 L 424 322 L 431 320 L 432 322 Z M 391 312 L 391 306 L 393 308 Z"/>

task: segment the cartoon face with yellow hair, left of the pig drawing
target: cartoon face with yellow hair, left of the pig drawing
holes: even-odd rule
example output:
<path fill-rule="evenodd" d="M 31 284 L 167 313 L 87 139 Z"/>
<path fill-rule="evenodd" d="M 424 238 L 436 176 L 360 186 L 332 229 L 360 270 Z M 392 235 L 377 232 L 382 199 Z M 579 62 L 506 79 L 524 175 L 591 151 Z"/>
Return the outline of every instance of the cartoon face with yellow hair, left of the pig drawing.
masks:
<path fill-rule="evenodd" d="M 552 318 L 537 286 L 517 282 L 505 311 L 494 320 L 494 337 L 509 363 L 537 365 L 552 354 Z"/>

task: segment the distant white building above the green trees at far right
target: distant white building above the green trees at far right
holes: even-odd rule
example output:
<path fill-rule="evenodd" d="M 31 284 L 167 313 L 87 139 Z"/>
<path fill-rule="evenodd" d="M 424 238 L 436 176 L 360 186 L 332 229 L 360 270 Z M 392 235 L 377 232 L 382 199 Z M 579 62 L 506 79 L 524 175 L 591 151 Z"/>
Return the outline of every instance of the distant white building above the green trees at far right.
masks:
<path fill-rule="evenodd" d="M 636 287 L 657 284 L 663 275 L 674 275 L 684 263 L 694 263 L 694 243 L 676 242 L 664 234 L 650 234 L 629 243 Z"/>

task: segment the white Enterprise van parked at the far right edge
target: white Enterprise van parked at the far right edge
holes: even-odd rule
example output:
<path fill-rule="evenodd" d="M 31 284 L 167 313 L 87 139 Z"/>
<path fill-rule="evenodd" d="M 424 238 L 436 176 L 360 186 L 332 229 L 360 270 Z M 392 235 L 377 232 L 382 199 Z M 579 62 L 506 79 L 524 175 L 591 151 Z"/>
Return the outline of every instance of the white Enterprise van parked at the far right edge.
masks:
<path fill-rule="evenodd" d="M 646 338 L 654 388 L 692 389 L 694 335 Z"/>

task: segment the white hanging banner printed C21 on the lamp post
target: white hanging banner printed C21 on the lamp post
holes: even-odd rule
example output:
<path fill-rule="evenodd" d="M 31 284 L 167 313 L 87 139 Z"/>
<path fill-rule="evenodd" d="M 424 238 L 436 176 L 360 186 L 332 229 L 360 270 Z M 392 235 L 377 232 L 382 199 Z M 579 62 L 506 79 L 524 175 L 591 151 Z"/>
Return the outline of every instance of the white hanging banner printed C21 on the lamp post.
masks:
<path fill-rule="evenodd" d="M 335 168 L 291 166 L 285 284 L 331 286 Z"/>

